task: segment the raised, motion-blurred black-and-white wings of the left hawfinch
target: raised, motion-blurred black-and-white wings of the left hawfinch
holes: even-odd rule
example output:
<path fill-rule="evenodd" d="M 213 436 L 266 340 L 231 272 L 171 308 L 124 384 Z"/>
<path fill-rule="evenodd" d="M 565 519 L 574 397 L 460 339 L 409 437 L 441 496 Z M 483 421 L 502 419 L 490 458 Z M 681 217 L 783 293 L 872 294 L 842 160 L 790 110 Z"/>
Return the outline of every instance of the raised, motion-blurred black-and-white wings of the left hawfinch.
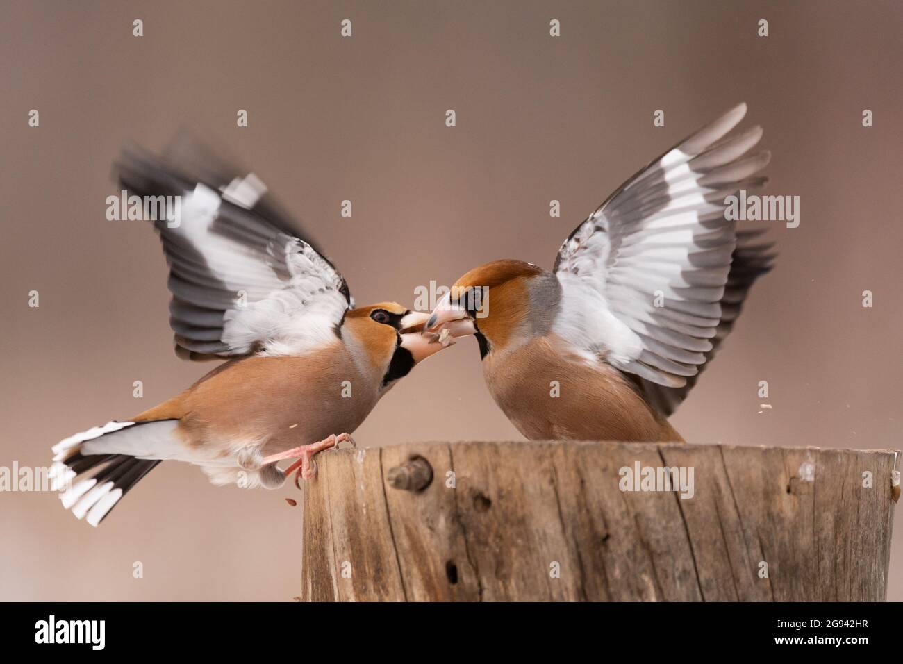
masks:
<path fill-rule="evenodd" d="M 126 148 L 115 176 L 143 201 L 173 197 L 144 210 L 165 210 L 154 228 L 170 267 L 179 357 L 291 355 L 334 341 L 354 305 L 348 285 L 254 173 L 182 134 L 162 157 Z"/>

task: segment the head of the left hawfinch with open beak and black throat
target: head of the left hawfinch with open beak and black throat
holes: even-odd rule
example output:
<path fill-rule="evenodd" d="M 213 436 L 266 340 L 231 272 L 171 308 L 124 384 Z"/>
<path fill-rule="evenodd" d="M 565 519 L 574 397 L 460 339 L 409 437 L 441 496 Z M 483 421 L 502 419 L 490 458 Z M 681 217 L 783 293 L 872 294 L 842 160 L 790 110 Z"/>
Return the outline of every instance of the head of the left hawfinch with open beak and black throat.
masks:
<path fill-rule="evenodd" d="M 342 322 L 370 366 L 385 369 L 383 386 L 407 375 L 414 365 L 442 351 L 438 334 L 424 334 L 429 313 L 412 312 L 396 302 L 351 309 Z"/>

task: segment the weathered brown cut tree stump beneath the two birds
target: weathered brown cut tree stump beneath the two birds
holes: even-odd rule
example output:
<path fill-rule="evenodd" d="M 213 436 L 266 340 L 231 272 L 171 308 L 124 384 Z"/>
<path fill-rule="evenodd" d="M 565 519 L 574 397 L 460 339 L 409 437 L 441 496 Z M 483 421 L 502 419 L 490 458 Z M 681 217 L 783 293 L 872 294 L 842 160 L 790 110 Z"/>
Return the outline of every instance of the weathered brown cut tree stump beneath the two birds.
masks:
<path fill-rule="evenodd" d="M 573 442 L 326 452 L 304 485 L 301 599 L 883 601 L 895 459 Z M 685 487 L 692 468 L 692 497 L 621 491 L 647 467 L 683 467 Z"/>

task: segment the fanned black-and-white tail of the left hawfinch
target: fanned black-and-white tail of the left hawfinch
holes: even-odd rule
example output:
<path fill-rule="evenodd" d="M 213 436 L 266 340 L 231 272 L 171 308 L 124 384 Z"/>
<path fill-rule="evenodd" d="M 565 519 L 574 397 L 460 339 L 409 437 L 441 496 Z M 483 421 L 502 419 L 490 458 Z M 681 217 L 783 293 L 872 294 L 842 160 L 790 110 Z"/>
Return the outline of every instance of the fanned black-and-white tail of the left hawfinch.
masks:
<path fill-rule="evenodd" d="M 70 435 L 53 445 L 51 488 L 65 486 L 62 506 L 97 526 L 157 463 L 172 458 L 177 424 L 176 419 L 107 422 Z"/>

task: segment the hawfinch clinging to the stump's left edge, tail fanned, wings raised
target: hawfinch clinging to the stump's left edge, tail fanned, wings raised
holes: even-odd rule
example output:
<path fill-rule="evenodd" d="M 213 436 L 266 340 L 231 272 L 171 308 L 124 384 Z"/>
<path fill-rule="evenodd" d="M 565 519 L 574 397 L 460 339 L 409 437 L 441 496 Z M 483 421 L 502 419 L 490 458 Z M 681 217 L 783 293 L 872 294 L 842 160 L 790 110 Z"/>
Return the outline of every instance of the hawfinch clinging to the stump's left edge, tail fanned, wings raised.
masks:
<path fill-rule="evenodd" d="M 452 341 L 424 336 L 428 314 L 401 304 L 355 308 L 344 278 L 263 183 L 237 173 L 185 137 L 163 159 L 135 148 L 118 164 L 124 191 L 181 197 L 154 221 L 176 354 L 228 361 L 140 415 L 53 447 L 55 488 L 70 485 L 63 506 L 92 526 L 163 460 L 196 463 L 214 484 L 311 477 L 313 454 L 353 444 L 380 397 Z M 297 461 L 281 471 L 284 459 Z"/>

